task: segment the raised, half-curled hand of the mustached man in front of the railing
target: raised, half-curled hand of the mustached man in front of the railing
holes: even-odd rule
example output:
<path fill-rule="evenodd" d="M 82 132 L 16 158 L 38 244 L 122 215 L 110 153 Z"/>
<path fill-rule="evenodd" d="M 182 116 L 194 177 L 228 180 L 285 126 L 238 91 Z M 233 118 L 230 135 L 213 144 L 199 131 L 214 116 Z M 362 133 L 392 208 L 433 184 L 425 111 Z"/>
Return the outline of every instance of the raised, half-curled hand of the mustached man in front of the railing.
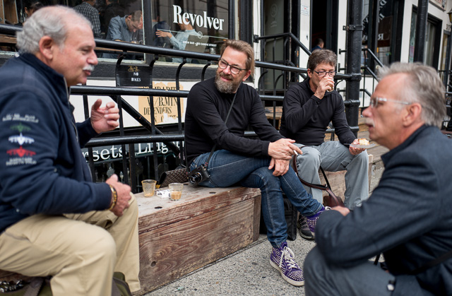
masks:
<path fill-rule="evenodd" d="M 107 102 L 105 107 L 100 107 L 102 100 L 97 99 L 91 107 L 91 125 L 97 134 L 103 131 L 112 131 L 119 126 L 119 109 L 114 102 Z"/>

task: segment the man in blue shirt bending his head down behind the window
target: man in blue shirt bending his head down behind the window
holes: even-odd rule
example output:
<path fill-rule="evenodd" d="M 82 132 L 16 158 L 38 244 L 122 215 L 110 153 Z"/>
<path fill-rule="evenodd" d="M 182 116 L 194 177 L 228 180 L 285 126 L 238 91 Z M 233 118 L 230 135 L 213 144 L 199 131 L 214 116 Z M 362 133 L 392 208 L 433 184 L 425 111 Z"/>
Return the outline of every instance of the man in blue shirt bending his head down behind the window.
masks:
<path fill-rule="evenodd" d="M 140 31 L 143 30 L 143 15 L 141 11 L 135 11 L 127 16 L 115 16 L 110 20 L 107 32 L 107 40 L 139 43 Z M 117 59 L 118 54 L 102 54 L 106 59 Z"/>

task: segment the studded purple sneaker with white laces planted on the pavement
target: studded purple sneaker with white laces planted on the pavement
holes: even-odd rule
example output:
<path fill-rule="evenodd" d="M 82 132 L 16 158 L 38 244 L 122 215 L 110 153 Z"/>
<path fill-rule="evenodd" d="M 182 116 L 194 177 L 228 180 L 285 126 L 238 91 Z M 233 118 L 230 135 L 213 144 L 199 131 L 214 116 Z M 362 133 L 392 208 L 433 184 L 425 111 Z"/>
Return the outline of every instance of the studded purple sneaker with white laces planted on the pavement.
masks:
<path fill-rule="evenodd" d="M 302 268 L 294 261 L 294 252 L 287 247 L 287 242 L 283 242 L 278 249 L 273 247 L 270 255 L 270 265 L 280 271 L 281 276 L 292 285 L 304 285 L 304 275 Z"/>

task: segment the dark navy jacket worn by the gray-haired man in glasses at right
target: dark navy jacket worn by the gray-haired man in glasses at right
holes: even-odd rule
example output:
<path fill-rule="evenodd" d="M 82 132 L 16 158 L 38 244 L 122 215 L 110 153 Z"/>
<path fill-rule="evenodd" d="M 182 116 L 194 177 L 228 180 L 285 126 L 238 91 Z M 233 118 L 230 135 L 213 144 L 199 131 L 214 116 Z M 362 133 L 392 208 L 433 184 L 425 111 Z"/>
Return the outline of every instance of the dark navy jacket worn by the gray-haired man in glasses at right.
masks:
<path fill-rule="evenodd" d="M 452 250 L 452 141 L 422 126 L 383 155 L 385 170 L 368 201 L 347 216 L 323 213 L 316 242 L 326 261 L 362 264 L 383 252 L 396 276 L 393 295 L 452 295 L 452 259 L 410 271 Z M 370 292 L 371 294 L 371 292 Z"/>

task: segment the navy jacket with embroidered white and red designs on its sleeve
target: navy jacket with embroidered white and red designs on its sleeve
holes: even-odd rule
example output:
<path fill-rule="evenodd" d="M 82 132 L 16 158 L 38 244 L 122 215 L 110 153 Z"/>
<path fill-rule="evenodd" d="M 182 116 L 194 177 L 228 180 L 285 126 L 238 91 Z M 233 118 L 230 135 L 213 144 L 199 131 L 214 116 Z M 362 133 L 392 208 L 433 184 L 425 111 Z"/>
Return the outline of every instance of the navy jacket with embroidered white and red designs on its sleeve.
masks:
<path fill-rule="evenodd" d="M 112 192 L 91 181 L 81 147 L 96 135 L 76 124 L 66 81 L 32 54 L 0 68 L 0 233 L 44 213 L 105 210 Z"/>

